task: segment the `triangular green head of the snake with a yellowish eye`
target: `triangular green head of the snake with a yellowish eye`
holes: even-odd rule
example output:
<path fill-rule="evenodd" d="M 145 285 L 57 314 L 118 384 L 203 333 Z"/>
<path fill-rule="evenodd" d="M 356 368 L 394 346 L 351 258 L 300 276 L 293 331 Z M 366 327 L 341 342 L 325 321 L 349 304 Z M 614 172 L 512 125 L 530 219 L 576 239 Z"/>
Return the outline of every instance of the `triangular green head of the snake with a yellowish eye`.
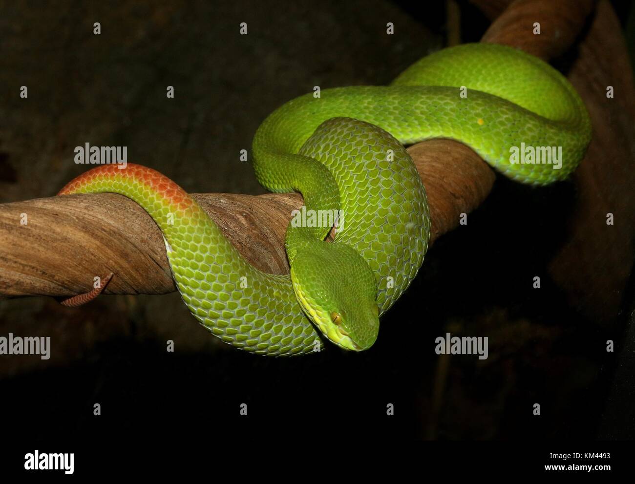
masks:
<path fill-rule="evenodd" d="M 377 282 L 351 247 L 316 242 L 302 248 L 291 264 L 291 282 L 302 310 L 331 342 L 352 351 L 373 346 L 379 332 Z"/>

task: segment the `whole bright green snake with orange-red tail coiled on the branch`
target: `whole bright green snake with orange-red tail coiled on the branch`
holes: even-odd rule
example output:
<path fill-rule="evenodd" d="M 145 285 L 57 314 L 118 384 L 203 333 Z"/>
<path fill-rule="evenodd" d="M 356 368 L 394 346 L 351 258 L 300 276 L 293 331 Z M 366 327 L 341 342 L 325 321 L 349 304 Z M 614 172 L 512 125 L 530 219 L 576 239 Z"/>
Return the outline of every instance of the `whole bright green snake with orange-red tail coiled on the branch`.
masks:
<path fill-rule="evenodd" d="M 432 53 L 390 86 L 291 100 L 255 134 L 258 181 L 269 191 L 300 192 L 307 211 L 342 220 L 332 243 L 324 240 L 331 227 L 288 227 L 290 276 L 251 266 L 194 199 L 144 166 L 98 166 L 60 194 L 115 192 L 141 205 L 163 233 L 185 304 L 224 342 L 286 356 L 319 349 L 324 335 L 359 351 L 373 345 L 380 316 L 424 260 L 429 210 L 404 145 L 428 138 L 458 140 L 507 177 L 544 185 L 576 168 L 591 123 L 558 71 L 496 44 Z M 521 143 L 562 147 L 561 168 L 511 163 L 510 149 Z"/>

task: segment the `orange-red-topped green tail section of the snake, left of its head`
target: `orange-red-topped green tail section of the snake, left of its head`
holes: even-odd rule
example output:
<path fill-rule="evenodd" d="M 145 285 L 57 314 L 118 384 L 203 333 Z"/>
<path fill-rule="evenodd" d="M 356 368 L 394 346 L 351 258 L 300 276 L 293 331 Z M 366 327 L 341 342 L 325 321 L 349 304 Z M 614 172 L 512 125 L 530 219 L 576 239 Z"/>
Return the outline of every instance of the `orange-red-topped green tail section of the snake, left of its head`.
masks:
<path fill-rule="evenodd" d="M 298 305 L 288 276 L 265 274 L 244 259 L 201 206 L 170 178 L 145 166 L 101 165 L 60 195 L 112 192 L 149 213 L 190 313 L 234 347 L 290 356 L 319 349 L 321 339 Z"/>

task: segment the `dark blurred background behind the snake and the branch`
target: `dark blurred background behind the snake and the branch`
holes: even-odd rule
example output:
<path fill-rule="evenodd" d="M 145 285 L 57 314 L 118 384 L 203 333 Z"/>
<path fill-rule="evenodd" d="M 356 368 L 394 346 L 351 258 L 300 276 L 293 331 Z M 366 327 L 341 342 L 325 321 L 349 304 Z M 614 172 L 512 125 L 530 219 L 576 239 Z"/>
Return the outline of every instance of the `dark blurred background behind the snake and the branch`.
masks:
<path fill-rule="evenodd" d="M 262 193 L 238 157 L 267 114 L 315 85 L 389 83 L 446 36 L 443 2 L 0 6 L 2 202 L 53 196 L 84 171 L 73 149 L 85 142 L 126 145 L 129 161 L 189 192 Z M 478 41 L 489 21 L 461 6 L 462 41 Z M 625 25 L 628 4 L 615 6 Z M 618 349 L 629 341 L 633 285 L 599 324 L 546 274 L 575 196 L 572 184 L 530 189 L 499 177 L 468 224 L 432 246 L 377 344 L 359 354 L 237 351 L 201 328 L 177 293 L 102 296 L 77 309 L 46 297 L 0 300 L 0 335 L 51 336 L 52 346 L 48 361 L 0 357 L 3 432 L 76 441 L 632 438 L 633 413 L 617 413 L 614 401 L 632 366 L 616 377 L 624 358 L 607 353 L 606 340 Z M 438 356 L 434 340 L 447 332 L 489 337 L 488 360 Z"/>

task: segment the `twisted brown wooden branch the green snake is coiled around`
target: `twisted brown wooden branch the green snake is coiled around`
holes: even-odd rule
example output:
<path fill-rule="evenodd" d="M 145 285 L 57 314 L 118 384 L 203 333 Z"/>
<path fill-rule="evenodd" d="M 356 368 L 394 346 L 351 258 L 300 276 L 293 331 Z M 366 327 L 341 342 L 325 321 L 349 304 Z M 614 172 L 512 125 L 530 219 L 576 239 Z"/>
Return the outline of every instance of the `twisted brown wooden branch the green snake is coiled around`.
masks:
<path fill-rule="evenodd" d="M 491 26 L 484 41 L 521 45 L 548 57 L 568 48 L 591 11 L 590 1 L 559 2 L 557 20 L 551 19 L 551 25 L 558 22 L 558 36 L 533 36 L 533 21 L 519 22 L 514 11 L 526 12 L 522 9 L 535 4 L 545 2 L 516 2 Z M 519 38 L 526 42 L 518 43 Z M 434 241 L 458 225 L 460 213 L 471 212 L 486 198 L 495 176 L 471 149 L 451 140 L 430 140 L 409 151 L 428 193 Z M 288 272 L 284 232 L 291 210 L 302 205 L 299 195 L 194 197 L 251 264 L 267 272 Z M 0 294 L 67 297 L 91 290 L 93 277 L 109 272 L 115 277 L 107 293 L 175 290 L 159 229 L 133 201 L 96 194 L 0 205 Z"/>

